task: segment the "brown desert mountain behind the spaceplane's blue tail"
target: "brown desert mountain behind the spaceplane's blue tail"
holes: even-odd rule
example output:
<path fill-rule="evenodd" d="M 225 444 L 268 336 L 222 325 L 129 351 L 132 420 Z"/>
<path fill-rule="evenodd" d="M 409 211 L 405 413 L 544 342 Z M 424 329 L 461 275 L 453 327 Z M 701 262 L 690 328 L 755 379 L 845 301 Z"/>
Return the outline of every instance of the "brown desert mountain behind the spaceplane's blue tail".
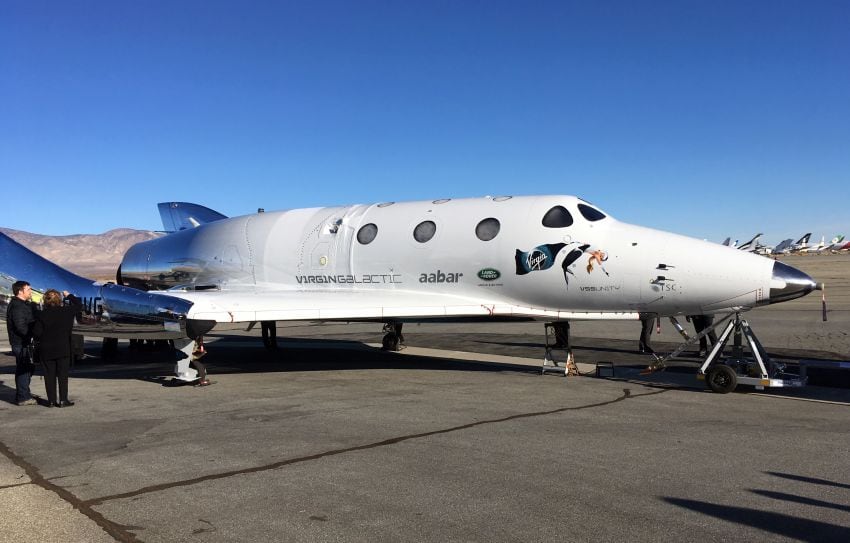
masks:
<path fill-rule="evenodd" d="M 0 232 L 77 275 L 102 281 L 115 281 L 115 271 L 127 249 L 161 235 L 130 228 L 72 236 L 42 236 L 9 228 L 0 228 Z"/>

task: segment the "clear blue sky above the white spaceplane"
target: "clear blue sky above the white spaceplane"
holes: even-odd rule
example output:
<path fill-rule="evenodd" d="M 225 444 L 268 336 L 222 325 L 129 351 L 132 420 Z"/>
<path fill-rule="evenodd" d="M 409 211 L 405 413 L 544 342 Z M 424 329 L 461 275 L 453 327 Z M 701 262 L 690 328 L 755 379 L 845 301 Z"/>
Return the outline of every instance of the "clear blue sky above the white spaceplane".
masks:
<path fill-rule="evenodd" d="M 0 226 L 575 194 L 850 235 L 850 2 L 56 1 L 0 10 Z"/>

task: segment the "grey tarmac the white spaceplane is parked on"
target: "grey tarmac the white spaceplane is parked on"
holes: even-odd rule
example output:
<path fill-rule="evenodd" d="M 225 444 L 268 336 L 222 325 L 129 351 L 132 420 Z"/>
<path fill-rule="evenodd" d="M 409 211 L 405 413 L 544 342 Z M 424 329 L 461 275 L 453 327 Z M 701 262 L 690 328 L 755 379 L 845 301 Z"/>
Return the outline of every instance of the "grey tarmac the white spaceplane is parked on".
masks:
<path fill-rule="evenodd" d="M 747 314 L 772 357 L 847 362 L 827 289 L 827 323 L 814 295 Z M 690 351 L 641 376 L 639 328 L 575 323 L 565 377 L 540 323 L 406 325 L 400 353 L 376 324 L 281 323 L 277 351 L 209 337 L 209 387 L 88 341 L 64 409 L 13 405 L 0 354 L 0 541 L 850 541 L 848 372 L 715 394 Z"/>

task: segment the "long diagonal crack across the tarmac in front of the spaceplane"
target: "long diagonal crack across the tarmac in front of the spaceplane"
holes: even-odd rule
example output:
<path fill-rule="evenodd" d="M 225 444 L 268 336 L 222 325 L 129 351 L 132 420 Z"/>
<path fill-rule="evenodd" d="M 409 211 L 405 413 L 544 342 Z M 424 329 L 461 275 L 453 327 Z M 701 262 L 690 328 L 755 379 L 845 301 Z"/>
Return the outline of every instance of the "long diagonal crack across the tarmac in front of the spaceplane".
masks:
<path fill-rule="evenodd" d="M 349 453 L 349 452 L 364 451 L 364 450 L 368 450 L 368 449 L 374 449 L 374 448 L 377 448 L 377 447 L 385 447 L 387 445 L 395 445 L 397 443 L 402 443 L 404 441 L 410 441 L 410 440 L 413 440 L 413 439 L 421 439 L 421 438 L 424 438 L 424 437 L 430 437 L 430 436 L 435 436 L 435 435 L 439 435 L 439 434 L 447 434 L 447 433 L 450 433 L 450 432 L 457 432 L 457 431 L 460 431 L 460 430 L 466 430 L 466 429 L 469 429 L 469 428 L 474 428 L 476 426 L 483 426 L 485 424 L 496 424 L 496 423 L 500 423 L 500 422 L 506 422 L 506 421 L 509 421 L 509 420 L 517 420 L 517 419 L 530 418 L 530 417 L 540 417 L 540 416 L 545 416 L 545 415 L 553 415 L 553 414 L 556 414 L 556 413 L 563 413 L 563 412 L 566 412 L 566 411 L 580 411 L 580 410 L 583 410 L 583 409 L 592 409 L 592 408 L 595 408 L 595 407 L 603 407 L 603 406 L 606 406 L 606 405 L 611 405 L 611 404 L 621 402 L 623 400 L 627 400 L 629 398 L 641 398 L 643 396 L 654 396 L 656 394 L 663 394 L 665 392 L 669 392 L 670 390 L 673 390 L 673 389 L 665 389 L 665 390 L 659 390 L 659 391 L 655 391 L 655 392 L 649 392 L 649 393 L 646 393 L 646 394 L 632 395 L 630 389 L 624 388 L 623 394 L 621 396 L 619 396 L 619 397 L 617 397 L 613 400 L 609 400 L 609 401 L 605 401 L 605 402 L 599 402 L 599 403 L 593 403 L 593 404 L 587 404 L 587 405 L 579 405 L 579 406 L 573 406 L 573 407 L 560 407 L 558 409 L 551 409 L 551 410 L 548 410 L 548 411 L 536 411 L 536 412 L 533 412 L 533 413 L 520 413 L 520 414 L 517 414 L 517 415 L 510 415 L 510 416 L 502 417 L 502 418 L 498 418 L 498 419 L 481 420 L 481 421 L 477 421 L 477 422 L 471 422 L 471 423 L 468 423 L 468 424 L 462 424 L 460 426 L 452 426 L 451 428 L 443 428 L 441 430 L 432 430 L 430 432 L 422 432 L 420 434 L 410 434 L 410 435 L 406 435 L 406 436 L 400 436 L 400 437 L 385 439 L 383 441 L 377 441 L 375 443 L 367 443 L 365 445 L 356 445 L 356 446 L 353 446 L 353 447 L 346 447 L 346 448 L 343 448 L 343 449 L 335 449 L 335 450 L 332 450 L 332 451 L 325 451 L 325 452 L 320 452 L 320 453 L 316 453 L 316 454 L 311 454 L 311 455 L 308 455 L 308 456 L 300 456 L 300 457 L 297 457 L 297 458 L 290 458 L 288 460 L 281 460 L 279 462 L 274 462 L 272 464 L 266 464 L 264 466 L 255 466 L 255 467 L 252 467 L 252 468 L 245 468 L 245 469 L 233 470 L 233 471 L 225 471 L 225 472 L 222 472 L 222 473 L 213 473 L 213 474 L 210 474 L 210 475 L 203 475 L 201 477 L 196 477 L 194 479 L 185 479 L 185 480 L 182 480 L 182 481 L 173 481 L 173 482 L 170 482 L 170 483 L 161 483 L 161 484 L 158 484 L 158 485 L 146 486 L 146 487 L 143 487 L 143 488 L 139 488 L 137 490 L 132 490 L 130 492 L 123 492 L 121 494 L 113 494 L 111 496 L 101 496 L 99 498 L 92 498 L 90 500 L 85 501 L 84 503 L 88 506 L 101 505 L 102 503 L 107 502 L 107 501 L 111 501 L 111 500 L 120 500 L 120 499 L 124 499 L 124 498 L 132 498 L 132 497 L 139 496 L 139 495 L 142 495 L 142 494 L 149 494 L 151 492 L 159 492 L 159 491 L 162 491 L 162 490 L 168 490 L 168 489 L 171 489 L 171 488 L 177 488 L 177 487 L 181 487 L 181 486 L 191 486 L 191 485 L 203 483 L 203 482 L 206 482 L 206 481 L 215 481 L 216 479 L 226 479 L 228 477 L 235 477 L 237 475 L 246 475 L 246 474 L 250 474 L 250 473 L 259 473 L 259 472 L 263 472 L 263 471 L 271 471 L 271 470 L 275 470 L 275 469 L 278 469 L 278 468 L 281 468 L 281 467 L 284 467 L 284 466 L 289 466 L 289 465 L 292 465 L 292 464 L 298 464 L 298 463 L 301 463 L 301 462 L 309 462 L 311 460 L 318 460 L 320 458 L 327 458 L 329 456 L 336 456 L 336 455 L 339 455 L 339 454 L 345 454 L 345 453 Z"/>

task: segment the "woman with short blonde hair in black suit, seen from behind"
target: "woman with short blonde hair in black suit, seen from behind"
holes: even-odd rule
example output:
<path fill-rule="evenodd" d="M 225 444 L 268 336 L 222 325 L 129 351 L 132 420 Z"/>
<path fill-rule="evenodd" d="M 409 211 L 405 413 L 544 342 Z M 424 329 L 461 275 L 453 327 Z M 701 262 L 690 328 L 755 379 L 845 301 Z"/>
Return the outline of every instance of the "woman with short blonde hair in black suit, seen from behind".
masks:
<path fill-rule="evenodd" d="M 63 305 L 62 296 L 69 302 Z M 44 308 L 35 321 L 33 335 L 40 340 L 39 355 L 44 366 L 44 386 L 47 388 L 48 407 L 70 407 L 68 399 L 68 371 L 71 367 L 71 329 L 74 317 L 81 309 L 80 299 L 59 294 L 50 289 L 44 293 Z M 59 383 L 59 401 L 56 401 L 56 383 Z"/>

